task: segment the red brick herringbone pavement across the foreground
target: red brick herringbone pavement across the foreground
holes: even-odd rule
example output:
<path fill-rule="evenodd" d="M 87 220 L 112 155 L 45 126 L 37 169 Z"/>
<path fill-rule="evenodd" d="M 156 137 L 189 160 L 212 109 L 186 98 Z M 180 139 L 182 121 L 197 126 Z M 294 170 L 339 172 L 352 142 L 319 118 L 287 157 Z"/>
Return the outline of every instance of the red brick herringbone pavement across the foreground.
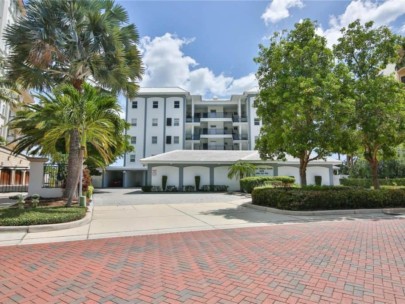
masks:
<path fill-rule="evenodd" d="M 405 220 L 0 248 L 1 303 L 405 303 Z"/>

